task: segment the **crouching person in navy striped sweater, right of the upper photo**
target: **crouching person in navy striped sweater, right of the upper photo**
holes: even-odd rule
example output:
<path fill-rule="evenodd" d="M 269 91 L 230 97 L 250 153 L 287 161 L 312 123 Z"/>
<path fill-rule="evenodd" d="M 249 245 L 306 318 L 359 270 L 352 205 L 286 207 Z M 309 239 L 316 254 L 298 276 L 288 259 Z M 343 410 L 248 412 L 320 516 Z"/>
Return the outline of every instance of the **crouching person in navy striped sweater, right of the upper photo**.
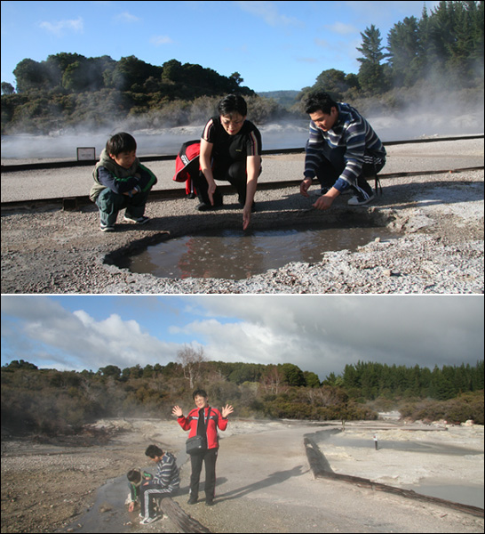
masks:
<path fill-rule="evenodd" d="M 366 179 L 386 165 L 386 149 L 378 135 L 356 109 L 322 91 L 307 97 L 305 111 L 311 121 L 300 193 L 309 196 L 316 176 L 322 186 L 322 196 L 314 203 L 317 209 L 329 209 L 347 190 L 355 193 L 350 206 L 368 204 L 375 193 Z"/>

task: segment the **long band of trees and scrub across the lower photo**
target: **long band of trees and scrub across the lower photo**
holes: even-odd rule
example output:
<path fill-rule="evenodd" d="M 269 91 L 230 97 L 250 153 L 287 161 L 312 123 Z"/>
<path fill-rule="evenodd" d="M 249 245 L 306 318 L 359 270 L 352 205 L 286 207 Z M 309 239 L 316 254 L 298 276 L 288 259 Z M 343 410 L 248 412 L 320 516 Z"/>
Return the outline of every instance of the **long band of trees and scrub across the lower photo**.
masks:
<path fill-rule="evenodd" d="M 185 347 L 165 366 L 95 372 L 13 360 L 1 379 L 2 425 L 13 433 L 72 433 L 102 417 L 170 418 L 173 405 L 192 406 L 197 387 L 213 406 L 232 404 L 238 417 L 370 420 L 397 408 L 411 418 L 483 424 L 483 361 L 433 370 L 358 362 L 320 382 L 294 364 L 208 361 Z"/>

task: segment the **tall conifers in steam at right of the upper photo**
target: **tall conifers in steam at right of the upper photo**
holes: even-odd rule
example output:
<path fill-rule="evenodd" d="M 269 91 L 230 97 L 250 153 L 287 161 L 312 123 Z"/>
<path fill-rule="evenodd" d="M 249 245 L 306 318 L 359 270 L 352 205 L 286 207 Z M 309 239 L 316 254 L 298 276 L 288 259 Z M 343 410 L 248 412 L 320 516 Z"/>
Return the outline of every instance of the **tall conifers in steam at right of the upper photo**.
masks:
<path fill-rule="evenodd" d="M 357 47 L 362 54 L 357 58 L 361 63 L 357 80 L 336 69 L 324 70 L 299 98 L 317 88 L 351 102 L 364 95 L 383 95 L 390 87 L 429 85 L 426 91 L 432 92 L 436 86 L 482 89 L 483 12 L 483 2 L 440 2 L 429 14 L 424 8 L 419 20 L 405 17 L 394 24 L 386 47 L 372 24 Z"/>

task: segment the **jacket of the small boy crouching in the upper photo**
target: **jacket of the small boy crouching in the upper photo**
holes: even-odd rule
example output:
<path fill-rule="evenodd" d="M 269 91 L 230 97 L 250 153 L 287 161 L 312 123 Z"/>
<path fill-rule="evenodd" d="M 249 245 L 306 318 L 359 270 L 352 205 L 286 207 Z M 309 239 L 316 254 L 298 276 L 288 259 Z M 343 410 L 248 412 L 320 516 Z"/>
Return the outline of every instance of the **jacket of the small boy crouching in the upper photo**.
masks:
<path fill-rule="evenodd" d="M 139 163 L 139 158 L 135 159 L 130 168 L 125 169 L 122 166 L 119 166 L 114 159 L 110 158 L 106 149 L 104 149 L 101 152 L 99 162 L 92 171 L 94 184 L 91 187 L 89 195 L 92 202 L 96 202 L 99 193 L 107 188 L 106 184 L 99 181 L 99 167 L 104 167 L 107 172 L 112 175 L 115 181 L 124 182 L 126 184 L 126 190 L 138 189 L 139 191 L 144 192 L 150 190 L 156 183 L 155 174 L 153 174 L 146 166 L 141 165 L 141 163 Z"/>

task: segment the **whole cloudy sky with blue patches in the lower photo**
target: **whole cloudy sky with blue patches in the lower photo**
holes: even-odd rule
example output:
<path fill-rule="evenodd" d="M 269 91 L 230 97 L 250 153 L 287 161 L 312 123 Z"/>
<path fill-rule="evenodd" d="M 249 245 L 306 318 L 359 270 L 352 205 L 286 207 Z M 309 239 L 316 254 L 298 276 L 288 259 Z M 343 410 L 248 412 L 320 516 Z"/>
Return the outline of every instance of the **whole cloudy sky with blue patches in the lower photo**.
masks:
<path fill-rule="evenodd" d="M 358 360 L 474 365 L 483 358 L 483 297 L 2 296 L 2 365 L 166 365 L 185 344 L 209 360 L 295 363 L 321 380 Z"/>

